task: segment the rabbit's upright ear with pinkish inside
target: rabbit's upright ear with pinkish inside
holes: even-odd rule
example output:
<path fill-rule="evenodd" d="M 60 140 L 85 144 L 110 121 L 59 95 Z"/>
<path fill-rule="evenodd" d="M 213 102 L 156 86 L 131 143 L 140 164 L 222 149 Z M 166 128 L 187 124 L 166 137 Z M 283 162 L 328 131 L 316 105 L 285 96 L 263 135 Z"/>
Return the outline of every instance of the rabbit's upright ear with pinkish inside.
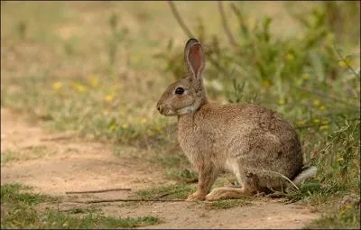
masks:
<path fill-rule="evenodd" d="M 194 78 L 200 78 L 205 66 L 205 61 L 202 45 L 197 39 L 191 38 L 187 41 L 184 55 L 192 76 Z"/>

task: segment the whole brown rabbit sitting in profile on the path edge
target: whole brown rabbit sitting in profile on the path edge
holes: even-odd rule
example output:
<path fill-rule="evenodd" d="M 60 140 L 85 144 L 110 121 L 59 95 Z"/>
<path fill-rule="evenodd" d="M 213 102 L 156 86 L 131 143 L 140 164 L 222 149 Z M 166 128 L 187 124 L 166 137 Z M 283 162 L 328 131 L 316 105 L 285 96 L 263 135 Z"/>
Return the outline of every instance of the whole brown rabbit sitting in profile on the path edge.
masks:
<path fill-rule="evenodd" d="M 315 176 L 316 167 L 302 169 L 299 137 L 276 112 L 252 104 L 208 102 L 202 80 L 205 54 L 197 39 L 187 41 L 184 59 L 188 76 L 163 92 L 157 109 L 161 115 L 178 116 L 180 148 L 199 173 L 198 189 L 187 200 L 243 198 Z M 240 186 L 210 191 L 224 171 L 233 173 Z"/>

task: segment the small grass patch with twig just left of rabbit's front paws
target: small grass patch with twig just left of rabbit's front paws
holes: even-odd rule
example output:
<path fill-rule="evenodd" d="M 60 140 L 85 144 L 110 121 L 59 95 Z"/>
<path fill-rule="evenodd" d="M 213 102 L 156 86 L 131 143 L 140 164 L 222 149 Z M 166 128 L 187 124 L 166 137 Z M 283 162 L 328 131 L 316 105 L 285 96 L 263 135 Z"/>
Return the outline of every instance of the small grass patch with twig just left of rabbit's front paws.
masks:
<path fill-rule="evenodd" d="M 175 184 L 153 189 L 142 189 L 135 192 L 134 198 L 143 199 L 185 199 L 196 189 L 193 185 Z"/>

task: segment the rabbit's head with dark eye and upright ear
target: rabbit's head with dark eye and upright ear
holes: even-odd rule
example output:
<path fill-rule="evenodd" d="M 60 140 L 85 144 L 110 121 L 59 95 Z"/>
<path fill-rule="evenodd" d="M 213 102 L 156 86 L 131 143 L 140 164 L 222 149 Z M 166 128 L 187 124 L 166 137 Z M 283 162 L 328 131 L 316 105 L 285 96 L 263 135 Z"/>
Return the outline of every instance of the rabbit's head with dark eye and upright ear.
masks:
<path fill-rule="evenodd" d="M 184 60 L 189 74 L 174 82 L 162 94 L 157 109 L 162 115 L 194 113 L 207 103 L 202 72 L 205 67 L 204 51 L 197 39 L 191 38 L 184 48 Z"/>

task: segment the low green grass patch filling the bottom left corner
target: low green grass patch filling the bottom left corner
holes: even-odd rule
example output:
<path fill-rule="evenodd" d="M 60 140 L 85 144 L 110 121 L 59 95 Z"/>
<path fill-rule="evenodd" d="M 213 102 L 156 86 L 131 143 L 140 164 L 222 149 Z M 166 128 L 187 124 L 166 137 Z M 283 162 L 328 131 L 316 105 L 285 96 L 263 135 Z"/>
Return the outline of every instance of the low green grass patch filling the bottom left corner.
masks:
<path fill-rule="evenodd" d="M 31 189 L 21 184 L 1 186 L 1 227 L 2 228 L 119 228 L 155 225 L 161 220 L 154 216 L 112 217 L 98 214 L 98 208 L 73 208 L 68 212 L 37 205 L 58 201 L 46 195 L 23 192 Z M 79 216 L 80 215 L 80 216 Z"/>

